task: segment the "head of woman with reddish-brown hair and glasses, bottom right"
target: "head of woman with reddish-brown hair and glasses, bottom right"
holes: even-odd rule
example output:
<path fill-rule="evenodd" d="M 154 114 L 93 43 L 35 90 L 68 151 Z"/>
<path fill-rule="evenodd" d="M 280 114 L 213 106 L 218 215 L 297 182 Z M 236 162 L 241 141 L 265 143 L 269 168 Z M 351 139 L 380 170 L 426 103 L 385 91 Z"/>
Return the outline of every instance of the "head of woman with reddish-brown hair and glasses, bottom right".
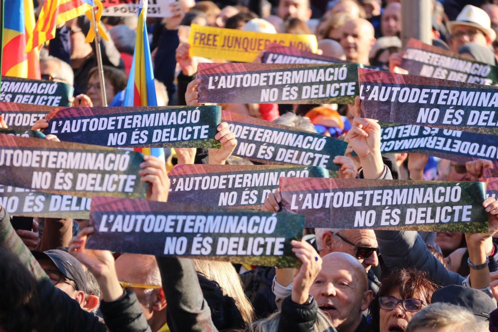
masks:
<path fill-rule="evenodd" d="M 410 320 L 430 304 L 437 289 L 425 272 L 403 269 L 382 280 L 370 305 L 373 331 L 403 332 Z"/>

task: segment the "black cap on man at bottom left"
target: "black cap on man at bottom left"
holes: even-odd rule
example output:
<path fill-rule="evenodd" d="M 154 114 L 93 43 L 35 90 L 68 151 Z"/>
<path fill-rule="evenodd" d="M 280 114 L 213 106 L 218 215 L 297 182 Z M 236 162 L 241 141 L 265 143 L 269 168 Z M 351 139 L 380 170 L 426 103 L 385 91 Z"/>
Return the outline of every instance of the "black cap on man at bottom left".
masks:
<path fill-rule="evenodd" d="M 70 253 L 54 249 L 47 251 L 32 251 L 34 258 L 48 258 L 54 262 L 57 269 L 64 277 L 75 282 L 78 291 L 87 291 L 87 274 L 83 270 L 80 261 L 71 256 Z"/>

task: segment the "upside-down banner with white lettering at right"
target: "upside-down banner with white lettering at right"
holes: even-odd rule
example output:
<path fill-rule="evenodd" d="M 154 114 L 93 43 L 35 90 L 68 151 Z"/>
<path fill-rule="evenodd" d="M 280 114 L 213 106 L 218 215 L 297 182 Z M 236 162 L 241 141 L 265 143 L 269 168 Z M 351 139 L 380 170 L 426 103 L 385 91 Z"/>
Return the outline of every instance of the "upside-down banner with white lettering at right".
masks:
<path fill-rule="evenodd" d="M 451 129 L 379 123 L 380 152 L 417 152 L 465 163 L 476 158 L 498 161 L 495 135 Z"/>

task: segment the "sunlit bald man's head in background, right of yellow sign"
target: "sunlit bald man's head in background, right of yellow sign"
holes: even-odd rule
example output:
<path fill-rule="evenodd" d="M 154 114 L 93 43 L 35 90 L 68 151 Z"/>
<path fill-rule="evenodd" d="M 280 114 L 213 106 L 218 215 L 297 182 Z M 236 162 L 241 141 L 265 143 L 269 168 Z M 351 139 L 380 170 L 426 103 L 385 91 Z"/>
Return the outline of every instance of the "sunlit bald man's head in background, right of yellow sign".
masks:
<path fill-rule="evenodd" d="M 368 65 L 375 40 L 372 23 L 366 19 L 350 19 L 340 27 L 339 42 L 348 61 Z"/>

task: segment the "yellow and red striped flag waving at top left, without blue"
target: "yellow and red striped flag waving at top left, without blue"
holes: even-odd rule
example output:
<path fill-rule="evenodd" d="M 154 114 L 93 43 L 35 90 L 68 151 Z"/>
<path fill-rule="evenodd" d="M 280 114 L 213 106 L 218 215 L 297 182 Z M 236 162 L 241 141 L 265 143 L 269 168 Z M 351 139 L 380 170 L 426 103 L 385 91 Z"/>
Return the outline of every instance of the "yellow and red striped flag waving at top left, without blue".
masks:
<path fill-rule="evenodd" d="M 28 40 L 27 51 L 53 39 L 57 24 L 83 15 L 94 5 L 94 0 L 46 0 L 36 21 L 33 34 Z"/>

